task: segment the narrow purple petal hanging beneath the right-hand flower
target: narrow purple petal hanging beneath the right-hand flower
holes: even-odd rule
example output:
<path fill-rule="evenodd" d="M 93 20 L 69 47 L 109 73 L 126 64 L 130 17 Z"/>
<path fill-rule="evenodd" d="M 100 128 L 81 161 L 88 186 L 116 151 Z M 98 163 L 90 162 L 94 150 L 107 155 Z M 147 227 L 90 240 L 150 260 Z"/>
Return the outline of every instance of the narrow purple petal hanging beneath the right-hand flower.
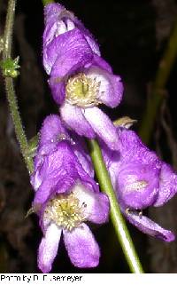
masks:
<path fill-rule="evenodd" d="M 172 232 L 158 226 L 158 224 L 153 222 L 150 218 L 140 216 L 133 211 L 130 211 L 128 214 L 124 211 L 124 215 L 132 225 L 136 226 L 144 234 L 150 234 L 151 236 L 167 242 L 174 241 L 175 239 Z"/>

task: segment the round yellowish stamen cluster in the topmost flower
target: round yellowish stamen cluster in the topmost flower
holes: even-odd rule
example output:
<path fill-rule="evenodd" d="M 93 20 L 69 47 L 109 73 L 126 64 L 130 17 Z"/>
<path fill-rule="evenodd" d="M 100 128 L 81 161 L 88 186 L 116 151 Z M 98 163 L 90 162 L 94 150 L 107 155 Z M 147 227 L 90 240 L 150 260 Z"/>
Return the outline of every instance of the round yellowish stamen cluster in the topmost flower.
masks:
<path fill-rule="evenodd" d="M 66 100 L 80 107 L 91 107 L 100 104 L 98 100 L 100 82 L 80 73 L 70 77 L 66 83 Z"/>

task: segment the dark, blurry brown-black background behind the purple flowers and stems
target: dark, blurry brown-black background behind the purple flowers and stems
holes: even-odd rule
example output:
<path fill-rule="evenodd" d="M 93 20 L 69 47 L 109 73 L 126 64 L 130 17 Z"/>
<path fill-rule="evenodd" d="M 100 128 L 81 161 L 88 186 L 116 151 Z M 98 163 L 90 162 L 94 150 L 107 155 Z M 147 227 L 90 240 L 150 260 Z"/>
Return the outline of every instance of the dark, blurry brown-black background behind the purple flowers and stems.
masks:
<path fill-rule="evenodd" d="M 15 80 L 19 110 L 28 139 L 35 136 L 45 115 L 58 113 L 50 96 L 47 76 L 42 68 L 43 15 L 40 1 L 17 1 L 13 37 L 13 57 L 20 57 L 20 76 Z M 68 0 L 60 1 L 73 11 L 94 34 L 104 59 L 122 76 L 124 98 L 114 110 L 104 111 L 116 119 L 129 115 L 137 119 L 138 131 L 148 98 L 150 83 L 156 75 L 159 59 L 177 20 L 174 0 Z M 0 35 L 3 35 L 7 0 L 0 2 Z M 159 109 L 150 148 L 166 162 L 176 165 L 176 75 L 173 65 Z M 167 114 L 167 121 L 165 115 Z M 165 123 L 164 123 L 165 121 Z M 165 127 L 167 124 L 167 128 Z M 38 218 L 25 218 L 34 193 L 14 136 L 11 116 L 0 76 L 0 273 L 39 273 L 36 256 L 42 238 Z M 177 199 L 159 209 L 147 210 L 150 218 L 177 234 Z M 177 273 L 177 241 L 167 244 L 129 230 L 142 265 L 148 273 Z M 74 268 L 60 244 L 52 273 L 128 273 L 127 263 L 112 225 L 93 226 L 102 257 L 96 269 Z"/>

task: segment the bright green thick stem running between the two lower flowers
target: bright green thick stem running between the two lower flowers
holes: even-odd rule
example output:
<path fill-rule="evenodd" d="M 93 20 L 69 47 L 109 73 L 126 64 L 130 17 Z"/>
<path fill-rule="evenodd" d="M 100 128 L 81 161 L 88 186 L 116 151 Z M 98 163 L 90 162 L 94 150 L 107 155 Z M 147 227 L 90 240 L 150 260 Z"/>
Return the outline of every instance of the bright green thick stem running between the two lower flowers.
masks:
<path fill-rule="evenodd" d="M 96 177 L 102 191 L 109 196 L 111 204 L 111 219 L 115 232 L 127 259 L 132 273 L 143 273 L 142 265 L 135 251 L 134 243 L 127 230 L 124 218 L 119 210 L 116 195 L 112 188 L 112 182 L 106 170 L 101 149 L 96 140 L 89 140 L 90 155 L 96 170 Z"/>

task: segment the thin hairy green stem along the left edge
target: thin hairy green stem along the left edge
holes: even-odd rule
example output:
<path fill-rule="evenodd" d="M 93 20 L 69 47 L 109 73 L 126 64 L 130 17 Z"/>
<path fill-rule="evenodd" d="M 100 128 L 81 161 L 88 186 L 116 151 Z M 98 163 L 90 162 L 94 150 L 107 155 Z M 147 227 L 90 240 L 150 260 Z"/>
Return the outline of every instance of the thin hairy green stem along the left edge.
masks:
<path fill-rule="evenodd" d="M 4 51 L 3 51 L 4 60 L 11 58 L 12 28 L 13 28 L 13 22 L 14 22 L 15 4 L 16 4 L 16 0 L 9 0 L 5 29 L 4 29 Z M 16 137 L 19 141 L 21 153 L 27 164 L 27 169 L 29 173 L 31 173 L 33 171 L 33 160 L 31 157 L 27 156 L 27 149 L 28 149 L 27 138 L 23 130 L 21 118 L 19 115 L 19 107 L 18 107 L 18 103 L 17 103 L 17 99 L 16 99 L 14 87 L 13 87 L 13 80 L 11 77 L 5 77 L 4 81 L 5 81 L 7 100 L 8 100 L 11 115 L 12 115 L 12 121 L 14 124 Z"/>

